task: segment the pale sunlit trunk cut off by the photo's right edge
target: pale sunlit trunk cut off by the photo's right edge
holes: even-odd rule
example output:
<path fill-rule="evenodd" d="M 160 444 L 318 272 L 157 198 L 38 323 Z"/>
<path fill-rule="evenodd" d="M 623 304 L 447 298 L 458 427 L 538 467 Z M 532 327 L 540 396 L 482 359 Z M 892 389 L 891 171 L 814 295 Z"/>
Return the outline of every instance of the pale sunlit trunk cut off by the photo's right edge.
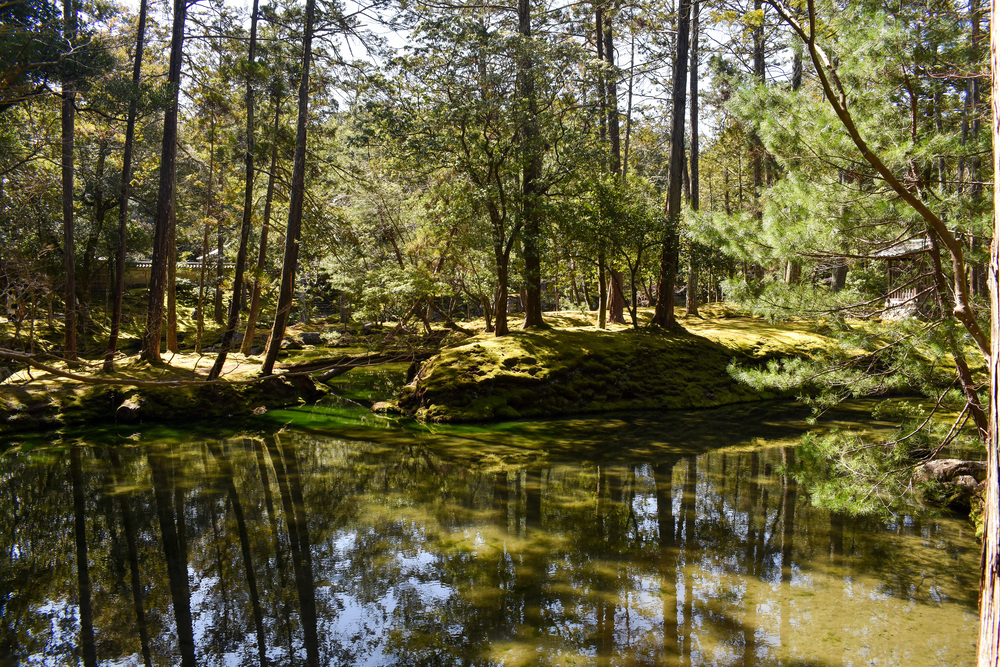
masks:
<path fill-rule="evenodd" d="M 1000 179 L 1000 12 L 990 13 L 990 65 L 993 72 L 993 179 Z M 986 491 L 983 494 L 983 558 L 979 593 L 979 667 L 1000 664 L 1000 193 L 993 193 L 993 244 L 990 248 L 990 437 Z"/>

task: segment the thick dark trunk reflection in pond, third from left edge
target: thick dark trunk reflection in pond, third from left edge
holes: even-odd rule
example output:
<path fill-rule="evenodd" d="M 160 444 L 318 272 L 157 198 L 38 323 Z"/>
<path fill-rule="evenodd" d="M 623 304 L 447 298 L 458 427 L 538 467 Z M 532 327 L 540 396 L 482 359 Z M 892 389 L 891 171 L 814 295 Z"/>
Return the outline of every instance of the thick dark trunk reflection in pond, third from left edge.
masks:
<path fill-rule="evenodd" d="M 168 461 L 163 450 L 148 454 L 149 470 L 153 481 L 153 496 L 156 499 L 156 514 L 160 521 L 163 538 L 163 556 L 167 561 L 167 578 L 170 581 L 170 599 L 174 607 L 177 623 L 177 640 L 181 653 L 181 665 L 194 667 L 194 630 L 191 622 L 191 590 L 187 577 L 187 548 L 184 539 L 183 508 L 171 497 L 171 476 L 167 470 Z M 183 491 L 178 488 L 175 495 L 183 502 Z"/>

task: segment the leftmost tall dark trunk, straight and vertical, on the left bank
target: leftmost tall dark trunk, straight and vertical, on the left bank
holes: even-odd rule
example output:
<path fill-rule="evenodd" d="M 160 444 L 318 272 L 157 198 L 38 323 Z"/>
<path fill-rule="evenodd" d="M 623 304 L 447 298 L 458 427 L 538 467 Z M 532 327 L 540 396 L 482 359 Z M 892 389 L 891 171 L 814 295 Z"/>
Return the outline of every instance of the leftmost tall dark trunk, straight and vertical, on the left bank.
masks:
<path fill-rule="evenodd" d="M 76 7 L 73 0 L 63 0 L 63 28 L 66 38 L 76 39 Z M 62 82 L 62 205 L 63 205 L 63 272 L 66 316 L 64 320 L 63 356 L 76 359 L 76 243 L 73 220 L 73 139 L 76 124 L 76 89 L 67 74 Z"/>

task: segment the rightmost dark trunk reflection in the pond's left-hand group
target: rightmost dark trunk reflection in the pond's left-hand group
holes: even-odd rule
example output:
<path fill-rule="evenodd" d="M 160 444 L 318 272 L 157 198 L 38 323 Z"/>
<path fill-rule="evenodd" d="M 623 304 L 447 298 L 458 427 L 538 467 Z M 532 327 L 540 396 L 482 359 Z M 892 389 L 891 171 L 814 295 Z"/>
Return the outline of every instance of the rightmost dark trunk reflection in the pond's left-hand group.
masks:
<path fill-rule="evenodd" d="M 295 587 L 299 593 L 299 618 L 306 646 L 306 665 L 319 666 L 319 638 L 316 632 L 316 591 L 313 584 L 312 553 L 309 548 L 309 526 L 302 496 L 302 480 L 298 461 L 290 447 L 282 445 L 277 436 L 267 448 L 278 477 L 281 505 L 288 524 L 288 542 L 295 571 Z"/>

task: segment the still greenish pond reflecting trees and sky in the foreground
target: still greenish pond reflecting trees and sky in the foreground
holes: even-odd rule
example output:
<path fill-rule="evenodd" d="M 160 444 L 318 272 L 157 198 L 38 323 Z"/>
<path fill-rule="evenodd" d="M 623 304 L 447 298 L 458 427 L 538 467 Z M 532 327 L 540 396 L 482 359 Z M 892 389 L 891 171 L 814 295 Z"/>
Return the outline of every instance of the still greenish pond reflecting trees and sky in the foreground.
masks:
<path fill-rule="evenodd" d="M 971 524 L 812 507 L 795 408 L 270 417 L 8 443 L 0 665 L 975 662 Z"/>

